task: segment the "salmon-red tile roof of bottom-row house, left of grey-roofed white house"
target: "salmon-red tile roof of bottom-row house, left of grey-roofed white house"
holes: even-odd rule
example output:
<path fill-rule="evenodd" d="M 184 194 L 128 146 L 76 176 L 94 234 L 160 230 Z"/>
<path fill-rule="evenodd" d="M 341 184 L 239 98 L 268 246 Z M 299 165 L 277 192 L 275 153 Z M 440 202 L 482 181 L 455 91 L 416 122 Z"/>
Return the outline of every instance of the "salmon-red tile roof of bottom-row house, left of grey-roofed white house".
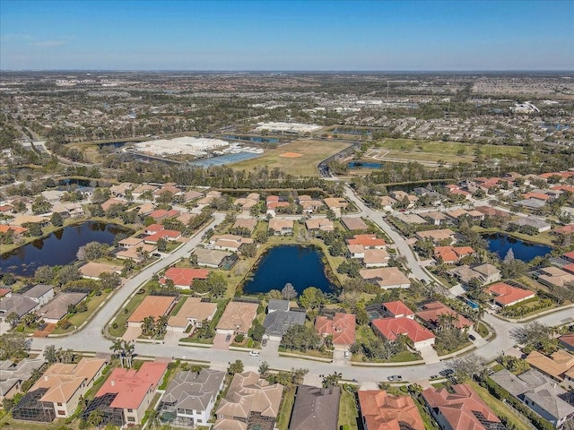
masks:
<path fill-rule="evenodd" d="M 110 408 L 138 409 L 149 391 L 155 391 L 168 363 L 145 362 L 139 370 L 114 369 L 108 380 L 96 393 L 96 398 L 108 393 L 117 393 Z"/>

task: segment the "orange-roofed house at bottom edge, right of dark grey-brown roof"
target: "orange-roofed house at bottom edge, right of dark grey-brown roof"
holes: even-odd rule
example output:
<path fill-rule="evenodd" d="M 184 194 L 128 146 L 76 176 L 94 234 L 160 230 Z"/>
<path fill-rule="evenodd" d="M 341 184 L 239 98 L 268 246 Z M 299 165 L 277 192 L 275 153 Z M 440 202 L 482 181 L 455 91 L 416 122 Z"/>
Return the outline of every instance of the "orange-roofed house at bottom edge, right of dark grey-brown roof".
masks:
<path fill-rule="evenodd" d="M 410 396 L 391 396 L 384 390 L 357 392 L 365 430 L 424 430 L 421 414 Z"/>

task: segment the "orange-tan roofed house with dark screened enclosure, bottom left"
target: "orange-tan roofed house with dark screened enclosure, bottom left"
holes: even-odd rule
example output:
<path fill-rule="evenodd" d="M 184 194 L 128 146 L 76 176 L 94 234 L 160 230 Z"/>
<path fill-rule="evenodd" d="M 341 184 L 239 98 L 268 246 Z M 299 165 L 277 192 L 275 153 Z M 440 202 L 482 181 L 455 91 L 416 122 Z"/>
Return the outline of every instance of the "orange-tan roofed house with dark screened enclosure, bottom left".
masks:
<path fill-rule="evenodd" d="M 72 416 L 80 396 L 90 390 L 107 364 L 103 358 L 83 357 L 75 365 L 49 366 L 13 409 L 13 418 L 49 423 L 55 418 Z"/>

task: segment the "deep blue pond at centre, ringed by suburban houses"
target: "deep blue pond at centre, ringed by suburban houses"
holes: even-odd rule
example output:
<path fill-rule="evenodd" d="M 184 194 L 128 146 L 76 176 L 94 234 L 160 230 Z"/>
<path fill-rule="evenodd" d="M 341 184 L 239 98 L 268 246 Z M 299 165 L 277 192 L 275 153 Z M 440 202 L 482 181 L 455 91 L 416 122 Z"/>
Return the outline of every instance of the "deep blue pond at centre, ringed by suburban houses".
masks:
<path fill-rule="evenodd" d="M 257 266 L 253 279 L 243 286 L 246 294 L 266 293 L 281 289 L 287 282 L 300 294 L 305 288 L 315 287 L 329 293 L 333 285 L 327 280 L 321 253 L 315 248 L 282 245 L 267 251 Z"/>

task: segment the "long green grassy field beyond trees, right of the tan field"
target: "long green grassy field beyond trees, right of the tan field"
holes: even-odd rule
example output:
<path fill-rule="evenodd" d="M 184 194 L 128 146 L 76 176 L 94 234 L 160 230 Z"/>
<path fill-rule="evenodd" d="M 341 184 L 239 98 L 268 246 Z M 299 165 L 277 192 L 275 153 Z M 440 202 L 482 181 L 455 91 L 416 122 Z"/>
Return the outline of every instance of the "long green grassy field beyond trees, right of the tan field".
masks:
<path fill-rule="evenodd" d="M 404 159 L 421 159 L 421 155 L 423 154 L 434 155 L 431 159 L 435 159 L 437 155 L 460 158 L 457 160 L 463 160 L 469 157 L 474 159 L 474 157 L 479 154 L 483 155 L 487 159 L 504 157 L 517 159 L 524 156 L 522 151 L 523 148 L 521 146 L 509 145 L 481 145 L 462 142 L 427 142 L 416 141 L 413 139 L 385 139 L 373 146 L 393 151 L 392 156 L 394 158 L 397 157 L 397 154 L 403 153 L 404 155 L 401 158 Z M 419 154 L 419 156 L 414 156 L 414 154 Z M 452 158 L 447 160 L 450 162 L 453 161 Z"/>

